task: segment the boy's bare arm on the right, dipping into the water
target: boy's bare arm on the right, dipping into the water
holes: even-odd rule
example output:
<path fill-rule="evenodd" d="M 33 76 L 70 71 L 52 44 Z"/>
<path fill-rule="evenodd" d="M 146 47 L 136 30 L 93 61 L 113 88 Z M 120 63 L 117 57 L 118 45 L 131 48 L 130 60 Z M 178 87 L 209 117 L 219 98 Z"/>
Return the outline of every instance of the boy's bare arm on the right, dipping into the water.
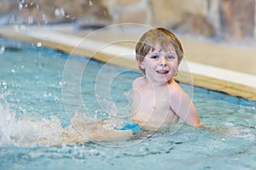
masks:
<path fill-rule="evenodd" d="M 194 127 L 203 127 L 195 109 L 195 105 L 182 88 L 178 87 L 172 91 L 171 107 L 183 122 Z"/>

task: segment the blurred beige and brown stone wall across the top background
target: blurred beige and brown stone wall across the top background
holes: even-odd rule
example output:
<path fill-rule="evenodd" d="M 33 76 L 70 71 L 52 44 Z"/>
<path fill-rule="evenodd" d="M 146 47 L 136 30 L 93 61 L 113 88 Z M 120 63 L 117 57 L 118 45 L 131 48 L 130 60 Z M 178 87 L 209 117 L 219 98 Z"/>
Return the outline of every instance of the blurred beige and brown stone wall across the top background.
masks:
<path fill-rule="evenodd" d="M 183 34 L 218 37 L 231 42 L 256 39 L 256 0 L 23 2 L 1 1 L 0 24 L 48 24 L 79 20 L 76 22 L 78 28 L 84 28 L 90 25 L 135 22 L 150 26 L 166 26 Z"/>

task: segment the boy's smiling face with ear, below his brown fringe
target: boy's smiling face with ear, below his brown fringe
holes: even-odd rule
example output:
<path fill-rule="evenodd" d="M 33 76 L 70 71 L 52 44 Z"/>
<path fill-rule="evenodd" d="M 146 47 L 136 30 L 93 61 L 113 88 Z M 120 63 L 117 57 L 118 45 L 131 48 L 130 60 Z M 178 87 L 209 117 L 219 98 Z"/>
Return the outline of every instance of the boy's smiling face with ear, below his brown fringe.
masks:
<path fill-rule="evenodd" d="M 153 83 L 169 82 L 175 75 L 179 65 L 175 48 L 172 45 L 167 51 L 157 45 L 148 52 L 143 61 L 137 60 L 137 63 L 145 70 L 146 77 Z"/>

